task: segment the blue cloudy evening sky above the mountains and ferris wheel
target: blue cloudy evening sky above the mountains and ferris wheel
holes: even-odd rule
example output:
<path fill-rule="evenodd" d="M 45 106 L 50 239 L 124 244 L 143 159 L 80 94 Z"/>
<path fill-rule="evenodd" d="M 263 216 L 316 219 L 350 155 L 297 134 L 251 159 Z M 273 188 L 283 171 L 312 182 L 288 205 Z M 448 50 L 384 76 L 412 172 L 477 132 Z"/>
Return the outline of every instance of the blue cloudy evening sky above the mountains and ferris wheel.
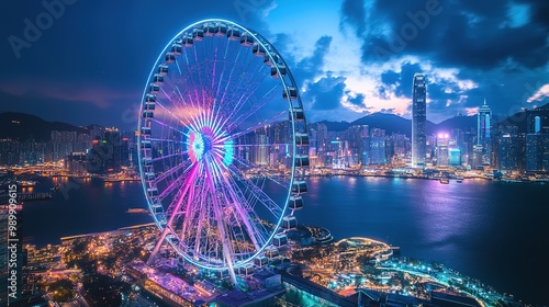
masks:
<path fill-rule="evenodd" d="M 11 1 L 0 13 L 0 112 L 134 129 L 157 56 L 208 18 L 273 43 L 312 121 L 410 117 L 418 71 L 435 123 L 475 114 L 484 98 L 501 115 L 549 102 L 547 0 L 296 2 Z"/>

